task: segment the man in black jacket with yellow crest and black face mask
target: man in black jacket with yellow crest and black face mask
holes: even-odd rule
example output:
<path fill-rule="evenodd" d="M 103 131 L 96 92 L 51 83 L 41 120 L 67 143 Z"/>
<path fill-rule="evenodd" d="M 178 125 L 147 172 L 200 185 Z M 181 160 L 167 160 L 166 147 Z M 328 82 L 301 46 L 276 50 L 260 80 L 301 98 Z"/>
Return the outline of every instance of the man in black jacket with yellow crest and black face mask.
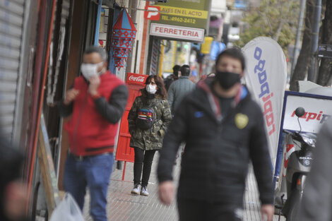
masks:
<path fill-rule="evenodd" d="M 254 166 L 261 213 L 273 218 L 271 159 L 259 105 L 240 83 L 244 56 L 226 49 L 216 60 L 215 78 L 201 80 L 182 100 L 165 135 L 158 163 L 159 197 L 174 198 L 172 169 L 186 142 L 177 191 L 179 220 L 242 220 L 248 164 Z"/>

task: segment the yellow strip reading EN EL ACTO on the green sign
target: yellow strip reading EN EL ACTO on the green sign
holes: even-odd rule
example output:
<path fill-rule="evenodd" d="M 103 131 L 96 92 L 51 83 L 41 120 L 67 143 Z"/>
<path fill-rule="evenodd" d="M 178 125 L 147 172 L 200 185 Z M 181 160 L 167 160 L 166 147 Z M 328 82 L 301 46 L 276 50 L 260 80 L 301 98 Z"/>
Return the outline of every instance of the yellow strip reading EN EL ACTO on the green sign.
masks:
<path fill-rule="evenodd" d="M 158 5 L 159 6 L 159 5 Z M 171 6 L 160 6 L 160 13 L 172 16 L 185 16 L 191 18 L 208 18 L 208 11 L 192 9 L 192 8 L 177 8 Z"/>

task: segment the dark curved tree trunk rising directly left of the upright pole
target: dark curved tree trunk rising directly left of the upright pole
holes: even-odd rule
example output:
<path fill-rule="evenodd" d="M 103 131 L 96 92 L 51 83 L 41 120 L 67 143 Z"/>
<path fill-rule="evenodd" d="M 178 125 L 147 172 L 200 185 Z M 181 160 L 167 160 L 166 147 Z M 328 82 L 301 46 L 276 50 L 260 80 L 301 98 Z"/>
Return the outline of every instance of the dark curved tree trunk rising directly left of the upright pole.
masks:
<path fill-rule="evenodd" d="M 297 64 L 295 66 L 292 78 L 290 78 L 290 90 L 299 91 L 297 80 L 304 80 L 307 75 L 310 64 L 310 46 L 312 40 L 312 20 L 314 20 L 314 1 L 307 0 L 306 13 L 304 21 L 304 33 L 302 39 L 302 47 Z"/>

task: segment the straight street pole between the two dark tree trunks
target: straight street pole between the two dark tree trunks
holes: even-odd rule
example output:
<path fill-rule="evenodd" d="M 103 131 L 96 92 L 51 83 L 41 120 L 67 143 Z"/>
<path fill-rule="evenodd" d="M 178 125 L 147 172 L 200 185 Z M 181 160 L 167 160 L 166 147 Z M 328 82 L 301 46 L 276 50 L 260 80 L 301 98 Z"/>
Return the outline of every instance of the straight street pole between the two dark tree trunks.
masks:
<path fill-rule="evenodd" d="M 316 0 L 314 9 L 314 23 L 312 25 L 312 47 L 311 47 L 311 62 L 308 71 L 308 80 L 314 82 L 315 80 L 315 70 L 316 70 L 316 51 L 318 48 L 319 40 L 319 23 L 321 22 L 321 0 Z"/>

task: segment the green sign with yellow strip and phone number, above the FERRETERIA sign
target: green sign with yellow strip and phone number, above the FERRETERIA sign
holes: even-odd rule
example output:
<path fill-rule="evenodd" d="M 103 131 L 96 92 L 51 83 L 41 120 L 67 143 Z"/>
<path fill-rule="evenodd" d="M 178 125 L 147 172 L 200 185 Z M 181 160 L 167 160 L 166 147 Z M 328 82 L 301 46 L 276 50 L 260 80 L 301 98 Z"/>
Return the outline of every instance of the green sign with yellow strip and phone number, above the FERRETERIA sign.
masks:
<path fill-rule="evenodd" d="M 169 0 L 158 3 L 160 19 L 153 23 L 206 29 L 211 0 Z"/>

